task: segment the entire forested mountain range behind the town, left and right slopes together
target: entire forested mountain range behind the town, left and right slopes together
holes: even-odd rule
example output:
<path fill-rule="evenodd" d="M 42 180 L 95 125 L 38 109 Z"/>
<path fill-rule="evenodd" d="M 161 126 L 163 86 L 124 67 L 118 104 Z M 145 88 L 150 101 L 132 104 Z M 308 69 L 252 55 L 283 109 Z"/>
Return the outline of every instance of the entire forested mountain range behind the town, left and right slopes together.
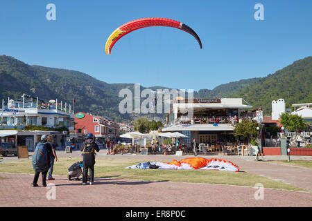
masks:
<path fill-rule="evenodd" d="M 41 99 L 56 99 L 73 103 L 75 111 L 104 115 L 116 122 L 129 122 L 141 115 L 120 114 L 118 107 L 123 98 L 119 91 L 129 88 L 134 94 L 134 84 L 107 84 L 76 70 L 30 66 L 13 57 L 0 56 L 0 98 L 18 99 L 24 93 Z M 286 106 L 294 103 L 311 102 L 312 57 L 295 61 L 290 66 L 266 77 L 242 79 L 221 84 L 213 90 L 201 89 L 194 97 L 243 97 L 257 108 L 261 106 L 268 114 L 273 99 L 283 98 Z M 162 88 L 150 87 L 152 90 Z M 141 90 L 145 87 L 141 86 Z M 168 88 L 170 89 L 170 88 Z M 164 115 L 153 115 L 162 117 Z"/>

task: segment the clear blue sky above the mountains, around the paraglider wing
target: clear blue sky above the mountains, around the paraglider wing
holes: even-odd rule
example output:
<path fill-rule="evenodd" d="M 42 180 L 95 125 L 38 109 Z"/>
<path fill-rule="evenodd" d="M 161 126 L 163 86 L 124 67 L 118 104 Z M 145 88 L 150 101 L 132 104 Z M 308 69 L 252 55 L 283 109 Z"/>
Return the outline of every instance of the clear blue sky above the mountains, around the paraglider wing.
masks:
<path fill-rule="evenodd" d="M 46 20 L 46 5 L 56 21 Z M 264 21 L 254 5 L 264 6 Z M 195 30 L 143 28 L 105 54 L 107 37 L 128 21 L 165 17 Z M 0 2 L 0 55 L 27 64 L 79 70 L 107 83 L 199 90 L 264 77 L 311 56 L 312 1 Z"/>

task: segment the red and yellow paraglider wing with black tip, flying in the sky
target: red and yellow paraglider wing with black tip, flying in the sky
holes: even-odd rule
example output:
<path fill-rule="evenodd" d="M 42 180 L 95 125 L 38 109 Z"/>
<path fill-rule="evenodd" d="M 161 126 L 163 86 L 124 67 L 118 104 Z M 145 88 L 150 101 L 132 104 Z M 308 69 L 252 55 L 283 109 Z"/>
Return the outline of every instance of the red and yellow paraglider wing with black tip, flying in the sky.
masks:
<path fill-rule="evenodd" d="M 191 29 L 189 26 L 185 25 L 184 23 L 181 23 L 180 21 L 175 21 L 173 19 L 164 19 L 164 18 L 145 18 L 145 19 L 137 19 L 134 21 L 130 21 L 128 23 L 123 24 L 112 34 L 110 37 L 108 37 L 105 45 L 105 52 L 107 55 L 110 55 L 110 51 L 112 50 L 112 47 L 118 41 L 121 37 L 124 35 L 127 35 L 128 33 L 137 30 L 139 28 L 146 28 L 146 27 L 152 27 L 152 26 L 166 26 L 166 27 L 172 27 L 172 28 L 178 28 L 180 30 L 184 30 L 188 32 L 189 34 L 193 35 L 193 37 L 196 38 L 198 41 L 198 44 L 200 44 L 200 48 L 202 48 L 202 42 L 200 41 L 200 38 L 194 32 L 193 29 Z"/>

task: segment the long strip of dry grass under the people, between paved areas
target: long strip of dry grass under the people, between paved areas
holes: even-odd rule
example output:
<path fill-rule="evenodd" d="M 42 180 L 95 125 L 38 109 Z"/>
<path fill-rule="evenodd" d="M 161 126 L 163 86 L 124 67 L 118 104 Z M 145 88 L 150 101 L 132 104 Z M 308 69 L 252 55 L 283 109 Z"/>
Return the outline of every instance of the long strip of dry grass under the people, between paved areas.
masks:
<path fill-rule="evenodd" d="M 67 175 L 67 169 L 73 162 L 80 159 L 60 157 L 54 163 L 53 174 Z M 207 184 L 231 184 L 252 186 L 261 183 L 265 188 L 306 191 L 302 188 L 271 180 L 267 177 L 243 172 L 229 171 L 196 171 L 196 170 L 155 170 L 155 169 L 125 169 L 126 166 L 137 164 L 138 160 L 96 159 L 95 177 L 112 176 L 116 179 L 135 179 L 144 181 L 193 182 Z M 0 172 L 34 173 L 31 160 L 1 164 Z"/>

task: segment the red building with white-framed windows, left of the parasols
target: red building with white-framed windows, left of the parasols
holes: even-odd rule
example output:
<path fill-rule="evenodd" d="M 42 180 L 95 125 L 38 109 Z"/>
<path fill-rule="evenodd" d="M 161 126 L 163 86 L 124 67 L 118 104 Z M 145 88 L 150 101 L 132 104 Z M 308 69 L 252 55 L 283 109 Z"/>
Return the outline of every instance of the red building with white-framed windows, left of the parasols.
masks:
<path fill-rule="evenodd" d="M 79 112 L 75 114 L 75 133 L 80 138 L 88 133 L 92 133 L 94 137 L 97 137 L 101 141 L 108 137 L 118 137 L 120 128 L 118 124 L 108 119 L 108 117 Z"/>

